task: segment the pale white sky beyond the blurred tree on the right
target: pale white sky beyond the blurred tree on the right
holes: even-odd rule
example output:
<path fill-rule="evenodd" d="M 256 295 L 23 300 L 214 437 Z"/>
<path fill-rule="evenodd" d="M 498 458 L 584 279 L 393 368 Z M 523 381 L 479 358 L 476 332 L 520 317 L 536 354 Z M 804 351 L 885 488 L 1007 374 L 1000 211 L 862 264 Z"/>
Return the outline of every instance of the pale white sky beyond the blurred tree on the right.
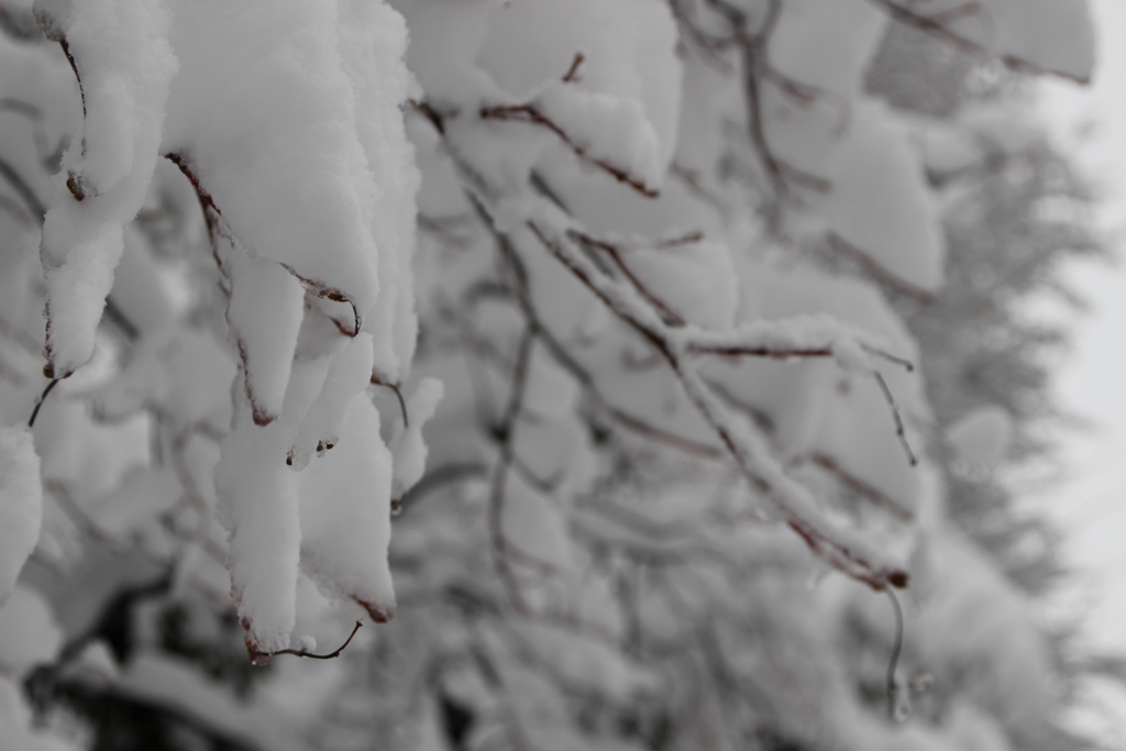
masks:
<path fill-rule="evenodd" d="M 1064 525 L 1067 558 L 1082 572 L 1090 637 L 1126 654 L 1126 1 L 1092 6 L 1099 33 L 1093 84 L 1049 84 L 1044 106 L 1102 190 L 1101 222 L 1121 260 L 1117 268 L 1071 269 L 1093 310 L 1074 327 L 1075 348 L 1057 385 L 1066 408 L 1091 420 L 1093 430 L 1069 437 L 1072 480 L 1044 502 Z M 1099 699 L 1116 715 L 1119 741 L 1126 739 L 1126 691 Z"/>

